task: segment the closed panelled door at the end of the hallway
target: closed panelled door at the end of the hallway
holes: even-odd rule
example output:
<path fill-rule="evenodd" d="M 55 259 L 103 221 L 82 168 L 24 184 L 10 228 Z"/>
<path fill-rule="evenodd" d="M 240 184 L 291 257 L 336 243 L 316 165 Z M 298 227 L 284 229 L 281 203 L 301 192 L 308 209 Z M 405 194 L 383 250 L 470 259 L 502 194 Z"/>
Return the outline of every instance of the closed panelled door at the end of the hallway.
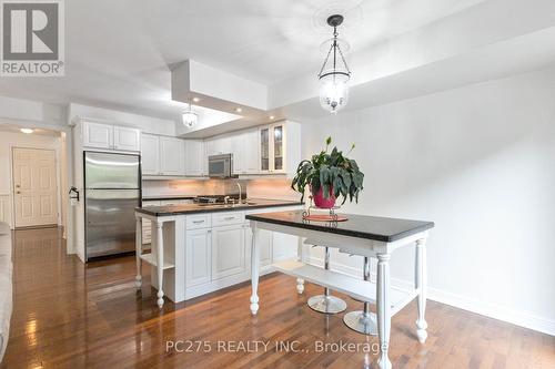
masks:
<path fill-rule="evenodd" d="M 56 152 L 13 147 L 16 227 L 58 224 Z"/>

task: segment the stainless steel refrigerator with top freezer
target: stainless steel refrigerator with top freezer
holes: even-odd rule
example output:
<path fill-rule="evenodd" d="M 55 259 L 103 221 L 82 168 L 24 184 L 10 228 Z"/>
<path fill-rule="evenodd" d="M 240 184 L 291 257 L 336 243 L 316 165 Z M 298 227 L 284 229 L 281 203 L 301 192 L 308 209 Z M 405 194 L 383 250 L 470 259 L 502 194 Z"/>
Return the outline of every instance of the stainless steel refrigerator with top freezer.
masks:
<path fill-rule="evenodd" d="M 84 152 L 87 260 L 135 249 L 134 208 L 141 204 L 139 155 Z"/>

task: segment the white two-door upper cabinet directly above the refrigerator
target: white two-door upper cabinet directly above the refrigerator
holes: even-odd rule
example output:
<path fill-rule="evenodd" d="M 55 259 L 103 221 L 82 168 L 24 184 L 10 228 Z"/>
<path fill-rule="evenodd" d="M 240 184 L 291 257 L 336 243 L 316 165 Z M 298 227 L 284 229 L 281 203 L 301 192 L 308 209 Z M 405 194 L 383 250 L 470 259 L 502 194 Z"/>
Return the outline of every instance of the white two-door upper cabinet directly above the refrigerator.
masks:
<path fill-rule="evenodd" d="M 82 124 L 84 147 L 140 151 L 141 132 L 139 130 L 97 122 Z"/>

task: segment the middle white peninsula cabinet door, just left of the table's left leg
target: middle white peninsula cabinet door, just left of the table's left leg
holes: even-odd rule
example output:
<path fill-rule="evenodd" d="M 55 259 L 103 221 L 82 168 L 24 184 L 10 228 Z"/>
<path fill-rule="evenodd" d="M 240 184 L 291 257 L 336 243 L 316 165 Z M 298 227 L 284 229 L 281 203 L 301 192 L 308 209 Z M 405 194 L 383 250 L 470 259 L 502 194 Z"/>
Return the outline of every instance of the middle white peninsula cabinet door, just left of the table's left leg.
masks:
<path fill-rule="evenodd" d="M 212 228 L 212 279 L 246 273 L 244 225 Z"/>

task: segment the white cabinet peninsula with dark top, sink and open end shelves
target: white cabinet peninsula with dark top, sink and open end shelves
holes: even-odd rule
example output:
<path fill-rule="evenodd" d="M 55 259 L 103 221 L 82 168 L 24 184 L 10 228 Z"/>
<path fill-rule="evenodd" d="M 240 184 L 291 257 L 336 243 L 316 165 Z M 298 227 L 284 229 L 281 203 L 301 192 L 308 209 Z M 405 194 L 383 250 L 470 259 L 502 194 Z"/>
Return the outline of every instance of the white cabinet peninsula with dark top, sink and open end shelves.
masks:
<path fill-rule="evenodd" d="M 240 204 L 179 204 L 135 208 L 137 286 L 142 266 L 151 266 L 151 285 L 158 305 L 167 296 L 180 303 L 250 279 L 252 233 L 245 216 L 303 207 L 301 202 L 250 198 Z M 143 245 L 143 222 L 152 224 L 150 252 Z M 261 270 L 270 273 L 278 260 L 294 257 L 299 238 L 263 233 Z"/>

